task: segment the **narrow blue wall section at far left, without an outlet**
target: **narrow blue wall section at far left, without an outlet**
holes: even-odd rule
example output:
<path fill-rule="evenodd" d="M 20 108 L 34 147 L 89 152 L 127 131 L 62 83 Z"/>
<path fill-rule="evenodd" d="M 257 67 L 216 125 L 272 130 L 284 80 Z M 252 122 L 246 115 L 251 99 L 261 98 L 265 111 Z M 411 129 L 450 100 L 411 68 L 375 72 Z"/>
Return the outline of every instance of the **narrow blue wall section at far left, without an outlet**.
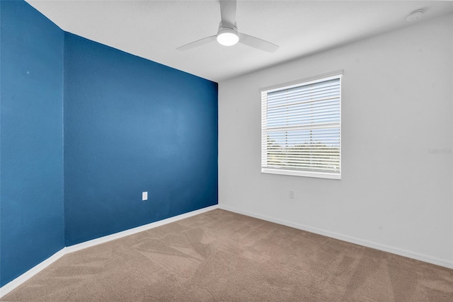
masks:
<path fill-rule="evenodd" d="M 64 32 L 0 1 L 0 286 L 64 247 Z"/>

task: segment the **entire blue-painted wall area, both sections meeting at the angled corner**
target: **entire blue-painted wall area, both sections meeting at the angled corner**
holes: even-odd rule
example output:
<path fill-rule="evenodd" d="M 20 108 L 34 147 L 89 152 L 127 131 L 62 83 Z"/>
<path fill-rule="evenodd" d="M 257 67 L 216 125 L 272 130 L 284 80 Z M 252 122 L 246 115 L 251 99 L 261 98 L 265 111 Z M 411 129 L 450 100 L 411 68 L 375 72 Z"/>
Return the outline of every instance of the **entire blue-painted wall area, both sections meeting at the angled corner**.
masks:
<path fill-rule="evenodd" d="M 0 18 L 0 286 L 65 245 L 217 204 L 217 83 L 25 1 Z"/>

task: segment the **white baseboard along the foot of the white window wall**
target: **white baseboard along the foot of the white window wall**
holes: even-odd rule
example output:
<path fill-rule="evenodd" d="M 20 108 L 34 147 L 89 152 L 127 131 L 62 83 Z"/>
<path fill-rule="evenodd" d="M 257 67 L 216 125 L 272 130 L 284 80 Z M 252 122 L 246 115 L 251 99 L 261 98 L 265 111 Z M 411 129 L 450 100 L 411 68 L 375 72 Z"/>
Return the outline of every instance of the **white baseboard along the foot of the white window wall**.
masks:
<path fill-rule="evenodd" d="M 304 226 L 303 224 L 300 224 L 300 223 L 293 223 L 293 222 L 285 221 L 285 220 L 282 220 L 282 219 L 275 219 L 275 218 L 270 217 L 270 216 L 264 216 L 264 215 L 252 213 L 250 211 L 243 211 L 241 209 L 236 209 L 236 208 L 233 208 L 233 207 L 225 206 L 223 204 L 219 204 L 219 209 L 224 209 L 226 211 L 232 211 L 232 212 L 237 213 L 237 214 L 243 214 L 243 215 L 251 216 L 251 217 L 254 217 L 254 218 L 257 218 L 257 219 L 263 219 L 265 221 L 270 221 L 270 222 L 273 222 L 273 223 L 282 224 L 283 226 L 289 226 L 291 228 L 297 228 L 297 229 L 302 230 L 302 231 L 307 231 L 307 232 L 310 232 L 310 233 L 315 233 L 315 234 L 319 234 L 319 235 L 322 235 L 322 236 L 335 238 L 335 239 L 346 241 L 346 242 L 349 242 L 349 243 L 355 243 L 357 245 L 366 246 L 367 248 L 374 248 L 375 250 L 382 250 L 384 252 L 390 252 L 391 254 L 400 255 L 400 256 L 403 256 L 403 257 L 408 257 L 408 258 L 412 258 L 412 259 L 415 259 L 415 260 L 420 260 L 420 261 L 423 261 L 423 262 L 428 262 L 428 263 L 431 263 L 432 265 L 440 265 L 441 267 L 447 267 L 449 269 L 453 268 L 453 262 L 452 261 L 445 260 L 445 259 L 440 259 L 440 258 L 437 258 L 437 257 L 428 256 L 428 255 L 423 255 L 423 254 L 420 254 L 418 252 L 412 252 L 411 250 L 403 250 L 401 248 L 394 248 L 394 247 L 389 246 L 389 245 L 383 245 L 381 243 L 374 243 L 374 242 L 369 241 L 369 240 L 363 240 L 363 239 L 360 239 L 360 238 L 355 238 L 355 237 L 352 237 L 352 236 L 347 236 L 347 235 L 343 235 L 343 234 L 339 234 L 339 233 L 334 233 L 334 232 L 331 232 L 331 231 L 325 231 L 325 230 L 322 230 L 320 228 L 313 228 L 311 226 Z"/>

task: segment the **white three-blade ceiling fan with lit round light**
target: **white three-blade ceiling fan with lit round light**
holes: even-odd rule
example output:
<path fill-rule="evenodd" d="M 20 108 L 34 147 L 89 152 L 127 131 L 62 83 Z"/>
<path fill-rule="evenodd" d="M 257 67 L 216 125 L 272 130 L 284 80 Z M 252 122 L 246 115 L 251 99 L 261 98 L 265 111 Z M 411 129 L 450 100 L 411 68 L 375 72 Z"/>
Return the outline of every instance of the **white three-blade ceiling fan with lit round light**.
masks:
<path fill-rule="evenodd" d="M 211 35 L 210 37 L 190 42 L 176 49 L 190 50 L 193 47 L 205 45 L 214 40 L 217 40 L 217 42 L 224 46 L 235 45 L 239 42 L 257 50 L 264 50 L 265 52 L 275 52 L 278 49 L 278 46 L 271 42 L 238 32 L 236 26 L 236 0 L 220 0 L 220 16 L 222 21 L 220 21 L 217 35 Z"/>

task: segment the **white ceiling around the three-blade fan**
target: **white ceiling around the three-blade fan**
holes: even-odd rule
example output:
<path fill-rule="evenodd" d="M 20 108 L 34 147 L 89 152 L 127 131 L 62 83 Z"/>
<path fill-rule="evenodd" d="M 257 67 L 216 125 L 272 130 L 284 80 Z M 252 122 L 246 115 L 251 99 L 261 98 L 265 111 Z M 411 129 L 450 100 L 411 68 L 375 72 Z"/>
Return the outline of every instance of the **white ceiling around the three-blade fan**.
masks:
<path fill-rule="evenodd" d="M 277 52 L 217 42 L 181 52 L 217 33 L 218 1 L 28 3 L 69 33 L 217 82 L 453 12 L 452 1 L 238 1 L 239 32 L 279 45 Z M 423 18 L 408 23 L 419 8 Z"/>

